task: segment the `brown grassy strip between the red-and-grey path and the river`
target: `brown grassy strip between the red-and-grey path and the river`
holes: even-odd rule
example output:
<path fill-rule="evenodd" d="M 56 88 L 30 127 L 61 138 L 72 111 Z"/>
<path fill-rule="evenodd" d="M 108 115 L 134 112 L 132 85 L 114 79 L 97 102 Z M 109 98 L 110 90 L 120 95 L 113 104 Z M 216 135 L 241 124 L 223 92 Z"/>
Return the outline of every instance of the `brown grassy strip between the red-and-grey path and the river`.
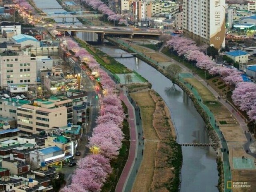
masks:
<path fill-rule="evenodd" d="M 132 191 L 177 192 L 182 150 L 175 141 L 168 107 L 154 90 L 140 90 L 130 96 L 140 107 L 145 136 L 143 160 Z"/>

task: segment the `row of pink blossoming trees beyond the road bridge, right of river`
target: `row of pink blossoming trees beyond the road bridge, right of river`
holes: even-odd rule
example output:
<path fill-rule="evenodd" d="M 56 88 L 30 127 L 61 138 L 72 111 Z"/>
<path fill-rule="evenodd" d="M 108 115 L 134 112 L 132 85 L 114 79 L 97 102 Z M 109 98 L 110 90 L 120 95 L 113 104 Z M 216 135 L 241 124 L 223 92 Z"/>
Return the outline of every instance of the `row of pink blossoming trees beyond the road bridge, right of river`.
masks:
<path fill-rule="evenodd" d="M 108 15 L 108 20 L 125 22 L 121 19 L 121 15 L 114 13 L 106 4 L 101 0 L 83 0 L 87 5 L 91 6 L 93 9 L 102 12 L 102 14 Z"/>

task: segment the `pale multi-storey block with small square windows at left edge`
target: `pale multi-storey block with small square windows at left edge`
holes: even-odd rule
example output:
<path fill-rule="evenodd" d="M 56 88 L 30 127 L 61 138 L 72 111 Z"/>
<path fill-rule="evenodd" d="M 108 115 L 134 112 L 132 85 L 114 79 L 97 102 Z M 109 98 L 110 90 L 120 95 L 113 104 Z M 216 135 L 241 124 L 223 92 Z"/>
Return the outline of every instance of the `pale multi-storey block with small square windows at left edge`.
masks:
<path fill-rule="evenodd" d="M 0 53 L 0 86 L 8 84 L 34 84 L 36 82 L 36 60 L 28 52 L 4 51 Z"/>

